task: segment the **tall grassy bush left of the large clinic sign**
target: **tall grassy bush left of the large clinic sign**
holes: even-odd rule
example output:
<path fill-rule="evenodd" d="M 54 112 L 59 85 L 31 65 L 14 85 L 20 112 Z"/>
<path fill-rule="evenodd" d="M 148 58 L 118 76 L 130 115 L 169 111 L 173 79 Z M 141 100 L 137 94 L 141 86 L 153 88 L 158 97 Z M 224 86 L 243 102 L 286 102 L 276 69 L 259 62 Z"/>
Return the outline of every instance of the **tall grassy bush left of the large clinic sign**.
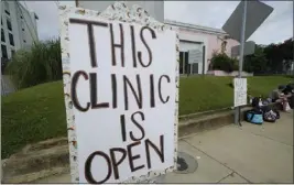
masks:
<path fill-rule="evenodd" d="M 62 79 L 59 40 L 50 40 L 18 51 L 7 66 L 7 74 L 18 88 Z"/>

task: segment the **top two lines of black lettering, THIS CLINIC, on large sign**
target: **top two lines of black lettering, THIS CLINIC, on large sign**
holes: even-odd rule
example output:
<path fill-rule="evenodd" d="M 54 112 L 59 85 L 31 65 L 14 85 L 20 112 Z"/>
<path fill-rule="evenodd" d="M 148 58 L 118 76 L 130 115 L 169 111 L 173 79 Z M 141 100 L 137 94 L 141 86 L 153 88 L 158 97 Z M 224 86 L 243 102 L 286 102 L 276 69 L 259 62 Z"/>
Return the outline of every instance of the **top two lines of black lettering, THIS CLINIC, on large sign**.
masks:
<path fill-rule="evenodd" d="M 116 61 L 116 47 L 120 48 L 120 56 L 121 56 L 121 67 L 124 67 L 124 32 L 123 32 L 123 26 L 122 24 L 119 24 L 120 28 L 120 43 L 115 43 L 113 41 L 113 26 L 111 23 L 104 23 L 104 22 L 97 22 L 97 21 L 88 21 L 88 20 L 78 20 L 78 19 L 69 19 L 70 23 L 74 24 L 84 24 L 87 25 L 87 31 L 88 31 L 88 43 L 89 43 L 89 55 L 90 55 L 90 64 L 91 67 L 99 67 L 97 65 L 97 57 L 96 57 L 96 48 L 95 48 L 95 36 L 94 36 L 94 28 L 92 26 L 101 26 L 101 28 L 108 28 L 110 31 L 110 45 L 111 45 L 111 58 L 112 58 L 112 66 L 117 65 Z M 150 32 L 152 39 L 156 39 L 155 32 L 148 28 L 143 26 L 140 30 L 140 39 L 142 41 L 142 44 L 146 47 L 146 54 L 143 57 L 142 52 L 137 52 L 135 51 L 135 41 L 134 41 L 134 29 L 133 25 L 130 25 L 130 35 L 131 35 L 131 46 L 132 46 L 132 64 L 133 68 L 138 67 L 138 64 L 140 64 L 142 67 L 150 67 L 153 61 L 153 55 L 150 46 L 148 45 L 143 32 Z M 135 55 L 137 54 L 137 55 Z M 144 59 L 143 59 L 144 58 Z M 138 59 L 138 61 L 137 61 Z M 139 62 L 139 63 L 138 63 Z M 154 108 L 156 105 L 155 102 L 156 99 L 160 100 L 162 104 L 166 104 L 170 100 L 168 95 L 163 95 L 162 89 L 166 89 L 166 84 L 171 83 L 171 78 L 168 75 L 161 75 L 160 77 L 155 78 L 153 74 L 150 74 L 149 76 L 149 92 L 148 91 L 142 91 L 142 77 L 139 74 L 135 74 L 135 77 L 133 80 L 131 80 L 130 76 L 122 75 L 121 79 L 118 79 L 118 76 L 116 74 L 110 74 L 110 79 L 111 79 L 111 88 L 112 88 L 112 101 L 111 101 L 111 107 L 113 109 L 118 108 L 118 83 L 122 83 L 123 85 L 123 100 L 124 100 L 124 110 L 129 110 L 129 91 L 132 92 L 135 102 L 138 105 L 139 109 L 143 108 L 143 97 L 150 98 L 150 104 L 149 106 L 151 108 Z M 80 80 L 88 80 L 89 81 L 89 101 L 80 105 L 78 101 L 78 96 L 77 96 L 77 84 Z M 105 79 L 100 79 L 105 80 Z M 135 81 L 135 83 L 132 83 Z M 135 84 L 135 85 L 134 85 Z M 164 86 L 165 85 L 165 86 Z M 72 100 L 73 105 L 75 108 L 79 111 L 88 111 L 89 109 L 99 109 L 99 108 L 110 108 L 110 102 L 104 102 L 102 100 L 99 100 L 99 91 L 98 88 L 99 81 L 97 81 L 97 73 L 86 73 L 85 70 L 77 70 L 73 74 L 72 77 Z"/>

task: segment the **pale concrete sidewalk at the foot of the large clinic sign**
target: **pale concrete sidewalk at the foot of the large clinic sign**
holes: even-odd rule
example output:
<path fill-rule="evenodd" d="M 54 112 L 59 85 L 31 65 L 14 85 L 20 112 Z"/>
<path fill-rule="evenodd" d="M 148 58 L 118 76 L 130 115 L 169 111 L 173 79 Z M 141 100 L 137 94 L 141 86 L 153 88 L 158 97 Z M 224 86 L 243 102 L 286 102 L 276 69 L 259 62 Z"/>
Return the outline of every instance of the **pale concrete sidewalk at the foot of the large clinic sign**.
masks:
<path fill-rule="evenodd" d="M 293 111 L 276 123 L 243 122 L 189 135 L 179 151 L 197 160 L 193 173 L 171 173 L 165 183 L 293 183 Z M 69 183 L 69 174 L 35 183 Z"/>

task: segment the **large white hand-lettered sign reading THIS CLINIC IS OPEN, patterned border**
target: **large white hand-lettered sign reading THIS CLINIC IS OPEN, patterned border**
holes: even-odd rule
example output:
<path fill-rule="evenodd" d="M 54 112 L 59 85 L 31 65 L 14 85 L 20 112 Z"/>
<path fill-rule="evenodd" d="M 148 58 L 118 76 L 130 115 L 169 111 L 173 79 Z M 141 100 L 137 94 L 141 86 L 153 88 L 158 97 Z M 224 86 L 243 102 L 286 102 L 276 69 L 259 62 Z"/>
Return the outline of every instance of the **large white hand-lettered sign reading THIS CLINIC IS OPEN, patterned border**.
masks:
<path fill-rule="evenodd" d="M 138 183 L 176 167 L 178 39 L 138 7 L 59 7 L 73 183 Z M 162 50 L 164 48 L 164 50 Z"/>

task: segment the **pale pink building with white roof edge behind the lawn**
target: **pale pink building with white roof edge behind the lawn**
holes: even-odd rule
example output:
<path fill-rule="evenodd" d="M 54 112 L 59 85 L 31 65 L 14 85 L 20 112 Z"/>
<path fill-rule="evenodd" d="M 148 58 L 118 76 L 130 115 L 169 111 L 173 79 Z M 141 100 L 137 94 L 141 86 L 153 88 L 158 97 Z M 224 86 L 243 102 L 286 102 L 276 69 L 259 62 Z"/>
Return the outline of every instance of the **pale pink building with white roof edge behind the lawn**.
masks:
<path fill-rule="evenodd" d="M 228 34 L 220 29 L 213 29 L 177 21 L 165 20 L 165 24 L 178 28 L 179 37 L 179 74 L 207 74 L 214 52 L 221 52 L 226 41 L 225 53 L 231 56 L 231 47 L 239 43 L 228 39 Z M 189 53 L 193 50 L 202 51 L 203 57 L 190 63 Z"/>

